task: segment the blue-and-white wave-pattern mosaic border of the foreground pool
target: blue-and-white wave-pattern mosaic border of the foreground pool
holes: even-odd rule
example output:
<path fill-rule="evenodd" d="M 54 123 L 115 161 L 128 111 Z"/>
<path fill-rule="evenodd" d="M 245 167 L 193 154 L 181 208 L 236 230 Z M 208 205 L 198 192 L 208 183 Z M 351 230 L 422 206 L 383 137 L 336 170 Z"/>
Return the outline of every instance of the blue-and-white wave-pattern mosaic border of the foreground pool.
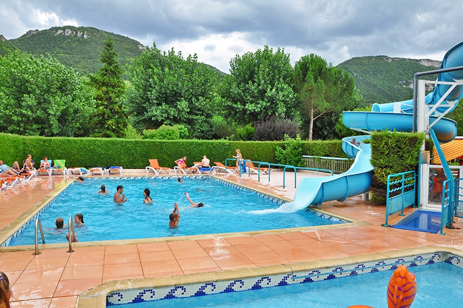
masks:
<path fill-rule="evenodd" d="M 220 293 L 259 290 L 261 288 L 271 286 L 310 283 L 394 270 L 401 264 L 404 264 L 407 267 L 414 267 L 446 262 L 456 267 L 463 268 L 463 263 L 461 261 L 462 258 L 459 256 L 438 252 L 418 256 L 394 258 L 383 261 L 347 264 L 331 268 L 320 268 L 310 271 L 292 272 L 262 277 L 243 278 L 228 281 L 210 281 L 159 288 L 123 290 L 112 292 L 106 295 L 106 306 L 117 306 L 120 304 L 140 303 L 154 300 L 188 298 Z"/>

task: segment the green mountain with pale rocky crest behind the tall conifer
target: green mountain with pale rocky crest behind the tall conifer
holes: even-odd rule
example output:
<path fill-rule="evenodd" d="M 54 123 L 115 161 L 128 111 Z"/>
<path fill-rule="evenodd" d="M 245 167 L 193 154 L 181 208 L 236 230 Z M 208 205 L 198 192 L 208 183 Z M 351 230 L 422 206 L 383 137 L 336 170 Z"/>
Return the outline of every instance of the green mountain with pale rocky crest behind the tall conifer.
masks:
<path fill-rule="evenodd" d="M 82 75 L 86 75 L 95 73 L 102 66 L 100 51 L 108 36 L 113 38 L 117 59 L 122 67 L 146 49 L 143 44 L 127 36 L 92 27 L 73 26 L 29 30 L 8 42 L 34 55 L 48 53 L 67 67 L 73 67 Z"/>

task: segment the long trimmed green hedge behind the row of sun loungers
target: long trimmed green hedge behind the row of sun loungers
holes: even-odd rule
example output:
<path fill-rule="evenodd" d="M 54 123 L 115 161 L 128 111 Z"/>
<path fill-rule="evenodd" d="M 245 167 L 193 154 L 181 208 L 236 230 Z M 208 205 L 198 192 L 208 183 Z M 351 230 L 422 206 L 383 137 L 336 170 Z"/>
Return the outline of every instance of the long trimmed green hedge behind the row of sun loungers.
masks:
<path fill-rule="evenodd" d="M 346 157 L 340 140 L 304 141 L 304 155 Z M 139 140 L 116 138 L 64 138 L 18 136 L 0 133 L 0 159 L 7 165 L 21 161 L 28 154 L 38 167 L 44 156 L 64 159 L 66 167 L 122 166 L 129 169 L 145 168 L 148 160 L 157 158 L 159 165 L 175 166 L 174 161 L 187 157 L 190 166 L 206 155 L 211 162 L 224 162 L 240 149 L 243 158 L 277 163 L 275 149 L 283 141 L 226 141 L 226 140 Z"/>

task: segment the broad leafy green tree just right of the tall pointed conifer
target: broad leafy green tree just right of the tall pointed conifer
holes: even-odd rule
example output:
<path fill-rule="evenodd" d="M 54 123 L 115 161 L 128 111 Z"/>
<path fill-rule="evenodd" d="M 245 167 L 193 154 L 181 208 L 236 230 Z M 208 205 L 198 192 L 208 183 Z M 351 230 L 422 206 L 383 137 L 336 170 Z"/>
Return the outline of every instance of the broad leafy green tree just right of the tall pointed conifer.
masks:
<path fill-rule="evenodd" d="M 217 77 L 196 54 L 183 59 L 181 52 L 162 52 L 153 44 L 133 60 L 129 79 L 125 104 L 135 128 L 182 124 L 192 138 L 213 136 Z"/>

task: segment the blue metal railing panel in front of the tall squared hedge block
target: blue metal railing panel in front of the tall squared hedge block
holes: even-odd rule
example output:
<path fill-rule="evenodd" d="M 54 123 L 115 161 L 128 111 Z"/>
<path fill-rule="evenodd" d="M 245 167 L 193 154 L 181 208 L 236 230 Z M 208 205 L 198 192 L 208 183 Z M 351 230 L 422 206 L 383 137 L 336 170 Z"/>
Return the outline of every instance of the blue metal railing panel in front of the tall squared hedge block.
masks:
<path fill-rule="evenodd" d="M 400 180 L 391 181 L 391 178 L 400 177 Z M 405 189 L 413 187 L 405 191 Z M 386 195 L 386 223 L 383 227 L 390 227 L 387 219 L 390 215 L 402 210 L 399 216 L 404 216 L 403 209 L 410 205 L 415 205 L 416 174 L 415 171 L 402 172 L 400 174 L 387 176 L 387 195 Z M 400 191 L 400 194 L 390 197 L 390 194 Z"/>

